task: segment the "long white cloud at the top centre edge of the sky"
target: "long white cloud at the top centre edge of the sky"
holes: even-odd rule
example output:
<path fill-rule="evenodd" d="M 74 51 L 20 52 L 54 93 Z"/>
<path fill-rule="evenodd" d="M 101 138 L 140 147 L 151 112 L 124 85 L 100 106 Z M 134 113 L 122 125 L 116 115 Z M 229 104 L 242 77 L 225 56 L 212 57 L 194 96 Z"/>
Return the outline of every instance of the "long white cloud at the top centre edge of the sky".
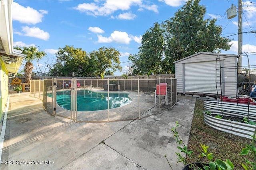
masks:
<path fill-rule="evenodd" d="M 143 4 L 142 0 L 107 0 L 104 3 L 101 3 L 102 1 L 94 2 L 79 4 L 74 9 L 92 16 L 109 16 L 118 10 L 130 10 L 131 6 L 138 6 L 139 8 L 158 12 L 156 5 Z"/>

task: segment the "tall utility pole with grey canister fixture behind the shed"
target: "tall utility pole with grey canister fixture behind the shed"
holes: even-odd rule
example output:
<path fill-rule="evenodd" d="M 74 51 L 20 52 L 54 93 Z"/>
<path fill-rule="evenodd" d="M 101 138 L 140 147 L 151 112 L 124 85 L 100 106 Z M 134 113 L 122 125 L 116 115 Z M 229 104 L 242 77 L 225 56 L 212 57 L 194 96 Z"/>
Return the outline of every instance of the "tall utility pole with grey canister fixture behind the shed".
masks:
<path fill-rule="evenodd" d="M 240 55 L 243 51 L 243 20 L 242 20 L 242 0 L 238 0 L 238 54 Z M 228 19 L 236 17 L 236 6 L 232 4 L 231 8 L 227 10 Z M 237 61 L 238 74 L 242 73 L 242 56 Z"/>

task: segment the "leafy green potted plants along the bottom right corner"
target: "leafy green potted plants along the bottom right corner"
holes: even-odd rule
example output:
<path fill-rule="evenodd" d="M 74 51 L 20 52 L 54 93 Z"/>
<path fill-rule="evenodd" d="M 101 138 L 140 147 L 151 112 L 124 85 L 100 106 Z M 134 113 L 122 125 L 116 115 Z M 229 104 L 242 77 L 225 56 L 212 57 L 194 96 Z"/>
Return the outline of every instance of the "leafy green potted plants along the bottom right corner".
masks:
<path fill-rule="evenodd" d="M 213 162 L 213 154 L 208 153 L 207 149 L 208 146 L 205 146 L 203 144 L 200 144 L 202 147 L 203 152 L 196 156 L 193 154 L 192 150 L 188 150 L 188 147 L 183 143 L 182 139 L 180 138 L 178 131 L 176 131 L 176 128 L 179 127 L 180 124 L 178 124 L 178 121 L 176 121 L 176 126 L 172 127 L 172 132 L 174 133 L 173 137 L 176 139 L 176 142 L 179 144 L 177 147 L 181 152 L 185 153 L 186 156 L 190 158 L 190 160 L 196 160 L 195 162 L 187 162 L 186 156 L 182 156 L 180 152 L 176 152 L 176 155 L 178 156 L 178 162 L 183 162 L 185 164 L 183 170 L 233 170 L 235 169 L 233 163 L 226 159 L 220 160 L 216 159 Z M 249 153 L 252 153 L 254 155 L 254 162 L 250 162 L 249 160 L 245 159 L 246 164 L 241 164 L 245 170 L 252 170 L 256 169 L 256 130 L 254 131 L 254 135 L 251 135 L 252 142 L 245 146 L 245 148 L 242 149 L 240 152 L 240 155 L 247 155 Z M 180 146 L 181 145 L 181 146 Z M 202 161 L 202 158 L 204 161 Z"/>

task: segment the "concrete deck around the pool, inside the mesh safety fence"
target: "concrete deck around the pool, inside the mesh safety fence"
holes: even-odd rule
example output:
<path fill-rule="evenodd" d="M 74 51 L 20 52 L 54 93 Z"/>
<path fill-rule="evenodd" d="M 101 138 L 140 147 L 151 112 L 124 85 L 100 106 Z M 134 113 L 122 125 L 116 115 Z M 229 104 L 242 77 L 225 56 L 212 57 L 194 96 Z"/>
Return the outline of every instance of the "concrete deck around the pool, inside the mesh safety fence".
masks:
<path fill-rule="evenodd" d="M 80 90 L 88 90 L 82 89 Z M 97 93 L 107 93 L 106 90 L 102 90 L 102 88 L 94 88 L 90 89 L 92 92 Z M 153 115 L 160 111 L 169 109 L 172 107 L 171 98 L 168 97 L 168 105 L 163 97 L 161 97 L 161 106 L 159 108 L 159 98 L 157 97 L 156 104 L 154 104 L 154 94 L 152 92 L 131 92 L 131 91 L 110 91 L 110 93 L 126 93 L 129 94 L 129 98 L 132 99 L 130 104 L 127 104 L 122 107 L 116 107 L 108 110 L 98 110 L 98 111 L 77 111 L 77 121 L 78 122 L 108 122 L 108 121 L 120 121 L 120 120 L 132 120 L 138 119 L 145 116 Z M 140 96 L 140 98 L 138 98 Z M 99 95 L 99 98 L 100 95 Z M 118 102 L 118 101 L 117 101 Z M 77 101 L 78 104 L 83 104 Z M 152 111 L 150 111 L 152 109 Z M 140 110 L 140 112 L 139 112 Z M 71 119 L 71 111 L 67 109 L 63 109 L 62 107 L 56 106 L 56 115 L 70 118 Z"/>

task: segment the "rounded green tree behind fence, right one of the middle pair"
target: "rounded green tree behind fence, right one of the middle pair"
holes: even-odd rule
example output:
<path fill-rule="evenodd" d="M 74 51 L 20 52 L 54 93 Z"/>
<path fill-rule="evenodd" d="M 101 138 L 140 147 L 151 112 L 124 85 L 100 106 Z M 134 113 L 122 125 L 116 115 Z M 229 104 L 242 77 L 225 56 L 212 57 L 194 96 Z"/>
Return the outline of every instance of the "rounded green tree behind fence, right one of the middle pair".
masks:
<path fill-rule="evenodd" d="M 90 53 L 90 60 L 95 68 L 94 76 L 102 76 L 106 69 L 122 70 L 119 57 L 121 53 L 112 47 L 101 47 Z"/>

